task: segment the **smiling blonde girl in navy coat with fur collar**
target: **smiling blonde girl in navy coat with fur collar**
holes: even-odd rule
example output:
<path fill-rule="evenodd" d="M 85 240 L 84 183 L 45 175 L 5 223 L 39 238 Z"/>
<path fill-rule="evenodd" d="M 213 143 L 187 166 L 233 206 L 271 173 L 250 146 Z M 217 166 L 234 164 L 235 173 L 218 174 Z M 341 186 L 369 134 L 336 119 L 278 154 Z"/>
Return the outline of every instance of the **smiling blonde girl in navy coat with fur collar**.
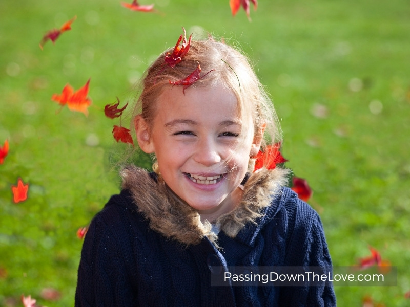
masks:
<path fill-rule="evenodd" d="M 155 172 L 122 169 L 121 193 L 85 238 L 75 305 L 336 305 L 324 282 L 227 280 L 234 268 L 329 267 L 331 258 L 319 216 L 284 187 L 288 171 L 253 171 L 279 129 L 247 59 L 212 38 L 180 40 L 146 72 L 134 111 Z"/>

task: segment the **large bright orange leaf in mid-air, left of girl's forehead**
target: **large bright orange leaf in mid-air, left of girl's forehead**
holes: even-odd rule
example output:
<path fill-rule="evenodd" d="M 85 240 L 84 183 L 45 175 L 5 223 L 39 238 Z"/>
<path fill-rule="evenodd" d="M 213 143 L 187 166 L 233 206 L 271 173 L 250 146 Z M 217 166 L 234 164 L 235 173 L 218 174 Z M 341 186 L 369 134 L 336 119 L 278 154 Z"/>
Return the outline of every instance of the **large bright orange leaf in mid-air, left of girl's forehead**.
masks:
<path fill-rule="evenodd" d="M 90 80 L 81 87 L 77 92 L 74 92 L 73 87 L 70 84 L 64 86 L 61 95 L 54 94 L 51 100 L 58 102 L 61 106 L 67 104 L 71 111 L 83 112 L 88 116 L 88 107 L 91 105 L 91 100 L 87 97 Z"/>

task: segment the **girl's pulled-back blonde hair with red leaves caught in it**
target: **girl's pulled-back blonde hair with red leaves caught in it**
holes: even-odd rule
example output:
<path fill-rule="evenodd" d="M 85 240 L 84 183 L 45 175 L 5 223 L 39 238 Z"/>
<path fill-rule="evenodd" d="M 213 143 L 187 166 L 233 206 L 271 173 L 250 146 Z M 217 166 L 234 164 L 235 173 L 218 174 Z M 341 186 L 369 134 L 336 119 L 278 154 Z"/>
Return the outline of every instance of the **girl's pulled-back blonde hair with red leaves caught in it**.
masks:
<path fill-rule="evenodd" d="M 172 51 L 173 48 L 159 55 L 142 77 L 141 95 L 135 103 L 132 118 L 141 115 L 152 130 L 157 108 L 160 107 L 157 99 L 164 89 L 172 86 L 169 81 L 185 79 L 199 63 L 202 70 L 201 76 L 211 70 L 214 71 L 194 82 L 191 87 L 211 89 L 218 84 L 231 91 L 238 101 L 238 116 L 242 122 L 241 136 L 250 137 L 248 135 L 249 125 L 253 124 L 255 134 L 256 131 L 265 127 L 262 148 L 281 139 L 273 103 L 253 71 L 249 60 L 240 51 L 212 37 L 206 40 L 192 40 L 188 53 L 180 63 L 171 67 L 165 63 L 164 58 Z M 131 130 L 135 130 L 132 122 Z"/>

